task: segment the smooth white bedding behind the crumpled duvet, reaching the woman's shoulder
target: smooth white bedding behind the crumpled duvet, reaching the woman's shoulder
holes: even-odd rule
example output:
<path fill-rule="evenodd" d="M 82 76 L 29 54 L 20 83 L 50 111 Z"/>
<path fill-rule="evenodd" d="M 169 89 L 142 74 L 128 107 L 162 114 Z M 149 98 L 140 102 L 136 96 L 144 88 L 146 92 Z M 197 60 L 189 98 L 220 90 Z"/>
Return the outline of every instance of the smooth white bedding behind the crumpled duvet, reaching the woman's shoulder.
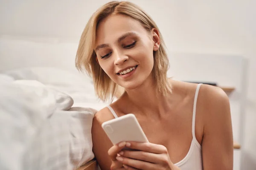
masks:
<path fill-rule="evenodd" d="M 93 108 L 99 111 L 108 105 L 97 98 L 92 79 L 86 74 L 52 67 L 20 68 L 3 73 L 16 80 L 37 80 L 47 87 L 62 91 L 72 97 L 73 107 Z"/>

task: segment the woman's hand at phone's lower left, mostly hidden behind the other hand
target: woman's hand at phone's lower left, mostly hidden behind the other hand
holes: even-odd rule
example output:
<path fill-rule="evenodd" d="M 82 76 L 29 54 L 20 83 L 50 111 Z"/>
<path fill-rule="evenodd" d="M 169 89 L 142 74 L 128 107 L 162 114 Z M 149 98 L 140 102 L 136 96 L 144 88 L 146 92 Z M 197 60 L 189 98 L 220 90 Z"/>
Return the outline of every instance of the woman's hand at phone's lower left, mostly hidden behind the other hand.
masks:
<path fill-rule="evenodd" d="M 116 160 L 116 156 L 119 156 L 118 153 L 125 147 L 126 142 L 120 142 L 119 144 L 113 145 L 108 150 L 108 155 L 111 158 L 111 170 L 125 170 L 122 162 Z"/>

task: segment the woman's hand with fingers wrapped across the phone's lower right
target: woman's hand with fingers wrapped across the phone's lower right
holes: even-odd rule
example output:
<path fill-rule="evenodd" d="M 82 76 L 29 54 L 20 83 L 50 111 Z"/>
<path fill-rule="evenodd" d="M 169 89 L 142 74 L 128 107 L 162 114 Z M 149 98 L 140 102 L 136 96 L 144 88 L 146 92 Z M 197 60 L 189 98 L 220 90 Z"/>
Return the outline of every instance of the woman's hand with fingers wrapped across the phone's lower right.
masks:
<path fill-rule="evenodd" d="M 126 147 L 115 160 L 126 170 L 179 170 L 170 160 L 168 150 L 163 145 L 141 142 L 126 142 Z"/>

